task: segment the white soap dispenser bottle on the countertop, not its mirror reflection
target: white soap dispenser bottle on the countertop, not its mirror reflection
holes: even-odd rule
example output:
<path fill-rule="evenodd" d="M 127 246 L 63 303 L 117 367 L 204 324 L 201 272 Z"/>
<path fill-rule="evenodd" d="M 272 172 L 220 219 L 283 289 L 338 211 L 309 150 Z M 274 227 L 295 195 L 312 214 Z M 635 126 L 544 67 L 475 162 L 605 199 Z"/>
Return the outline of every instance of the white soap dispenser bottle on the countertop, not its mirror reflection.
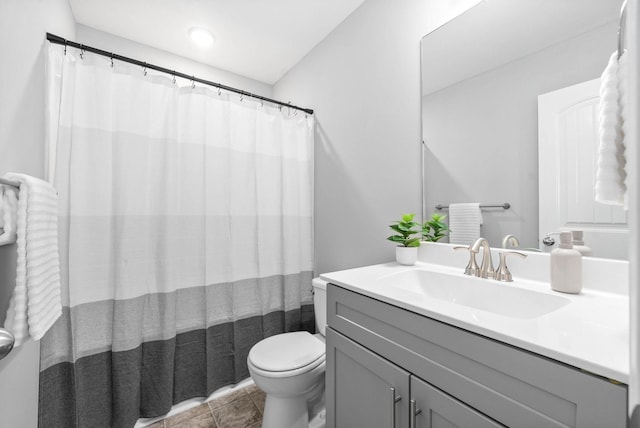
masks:
<path fill-rule="evenodd" d="M 551 288 L 561 293 L 582 290 L 582 254 L 573 249 L 571 232 L 560 232 L 560 246 L 551 252 Z"/>

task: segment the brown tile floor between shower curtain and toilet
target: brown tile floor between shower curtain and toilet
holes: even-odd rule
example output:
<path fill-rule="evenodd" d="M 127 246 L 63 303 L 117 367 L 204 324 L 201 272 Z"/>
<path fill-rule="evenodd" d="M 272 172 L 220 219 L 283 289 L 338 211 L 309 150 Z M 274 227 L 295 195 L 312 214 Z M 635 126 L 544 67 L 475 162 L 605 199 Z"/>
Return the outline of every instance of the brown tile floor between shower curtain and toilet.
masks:
<path fill-rule="evenodd" d="M 249 385 L 147 428 L 260 428 L 265 394 Z"/>

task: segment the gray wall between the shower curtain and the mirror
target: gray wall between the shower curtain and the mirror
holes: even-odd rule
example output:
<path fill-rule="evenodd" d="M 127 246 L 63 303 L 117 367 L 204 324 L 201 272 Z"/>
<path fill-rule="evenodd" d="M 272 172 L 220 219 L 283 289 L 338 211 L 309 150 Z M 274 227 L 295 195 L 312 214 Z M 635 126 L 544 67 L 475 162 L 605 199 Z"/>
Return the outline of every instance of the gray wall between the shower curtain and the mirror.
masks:
<path fill-rule="evenodd" d="M 367 0 L 274 86 L 316 112 L 318 273 L 392 260 L 420 216 L 420 39 L 476 2 Z"/>

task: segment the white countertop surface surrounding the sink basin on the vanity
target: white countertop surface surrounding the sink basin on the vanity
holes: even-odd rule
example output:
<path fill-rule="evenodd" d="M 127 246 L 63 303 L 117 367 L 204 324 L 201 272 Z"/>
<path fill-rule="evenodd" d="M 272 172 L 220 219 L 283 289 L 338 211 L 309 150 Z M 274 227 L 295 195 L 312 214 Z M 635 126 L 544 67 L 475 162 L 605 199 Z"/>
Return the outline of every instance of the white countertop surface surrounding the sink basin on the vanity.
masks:
<path fill-rule="evenodd" d="M 590 288 L 583 289 L 577 295 L 556 293 L 548 283 L 533 280 L 498 283 L 504 287 L 559 294 L 571 300 L 551 313 L 522 319 L 429 298 L 379 280 L 391 273 L 416 268 L 451 275 L 463 275 L 464 270 L 422 262 L 415 266 L 387 263 L 326 273 L 320 278 L 588 372 L 625 384 L 629 382 L 629 299 L 626 295 Z"/>

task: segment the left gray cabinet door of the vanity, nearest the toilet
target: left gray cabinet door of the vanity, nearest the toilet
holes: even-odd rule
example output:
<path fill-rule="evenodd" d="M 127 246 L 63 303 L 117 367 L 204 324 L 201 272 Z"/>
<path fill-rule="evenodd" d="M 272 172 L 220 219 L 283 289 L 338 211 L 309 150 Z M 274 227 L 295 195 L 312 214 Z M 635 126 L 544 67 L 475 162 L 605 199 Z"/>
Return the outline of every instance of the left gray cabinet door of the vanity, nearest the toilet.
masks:
<path fill-rule="evenodd" d="M 408 426 L 409 373 L 327 328 L 327 428 Z"/>

